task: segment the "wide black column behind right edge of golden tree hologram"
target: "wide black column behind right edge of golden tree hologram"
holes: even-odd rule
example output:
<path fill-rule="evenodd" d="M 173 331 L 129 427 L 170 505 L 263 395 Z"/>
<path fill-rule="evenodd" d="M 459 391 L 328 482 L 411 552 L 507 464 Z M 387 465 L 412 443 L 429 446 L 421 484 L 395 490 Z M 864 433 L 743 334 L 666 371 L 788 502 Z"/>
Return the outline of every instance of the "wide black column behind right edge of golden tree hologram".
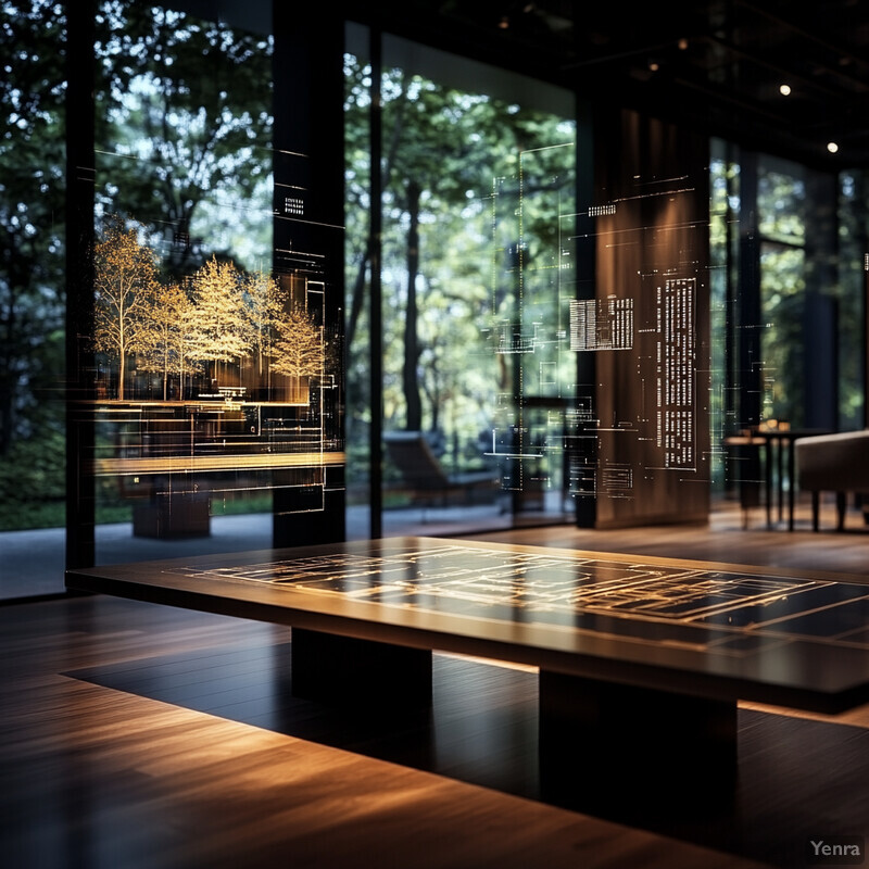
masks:
<path fill-rule="evenodd" d="M 323 325 L 343 357 L 343 48 L 340 3 L 274 3 L 275 267 L 324 288 Z M 301 200 L 291 214 L 285 197 Z M 301 212 L 301 213 L 300 213 Z M 345 537 L 343 365 L 332 364 L 323 391 L 323 503 L 311 508 L 277 473 L 273 539 L 276 546 L 331 543 Z M 281 474 L 287 479 L 281 479 Z"/>

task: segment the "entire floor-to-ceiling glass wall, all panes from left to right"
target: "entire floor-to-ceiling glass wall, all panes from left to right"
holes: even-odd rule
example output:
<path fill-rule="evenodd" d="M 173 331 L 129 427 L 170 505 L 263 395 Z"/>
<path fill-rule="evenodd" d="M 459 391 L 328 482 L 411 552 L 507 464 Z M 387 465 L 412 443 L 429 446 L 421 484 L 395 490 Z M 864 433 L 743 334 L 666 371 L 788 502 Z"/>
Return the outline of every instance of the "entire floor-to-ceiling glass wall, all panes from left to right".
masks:
<path fill-rule="evenodd" d="M 585 413 L 577 351 L 590 348 L 571 330 L 593 325 L 596 351 L 618 349 L 607 329 L 621 311 L 571 307 L 587 158 L 574 96 L 389 35 L 375 68 L 367 32 L 349 28 L 344 345 L 326 329 L 319 254 L 291 242 L 313 223 L 312 198 L 293 180 L 305 155 L 274 146 L 272 4 L 203 12 L 216 5 L 98 3 L 97 441 L 80 457 L 96 476 L 98 561 L 164 556 L 167 540 L 269 545 L 276 499 L 288 508 L 276 493 L 320 508 L 327 443 L 349 456 L 350 536 L 368 536 L 373 496 L 387 533 L 572 520 L 581 479 L 565 444 Z M 65 22 L 49 0 L 2 9 L 0 594 L 11 596 L 63 588 Z M 837 179 L 830 223 L 818 206 L 829 179 L 744 158 L 714 143 L 713 443 L 744 425 L 739 395 L 758 370 L 763 418 L 805 421 L 805 373 L 823 352 L 817 312 L 833 326 L 837 424 L 857 427 L 865 174 Z M 614 213 L 584 207 L 583 219 Z M 746 320 L 750 228 L 759 307 Z M 744 365 L 746 328 L 760 349 Z M 345 443 L 325 425 L 343 412 L 342 365 Z M 722 455 L 711 451 L 714 480 Z M 238 531 L 223 522 L 232 516 Z M 11 591 L 13 578 L 25 584 Z"/>

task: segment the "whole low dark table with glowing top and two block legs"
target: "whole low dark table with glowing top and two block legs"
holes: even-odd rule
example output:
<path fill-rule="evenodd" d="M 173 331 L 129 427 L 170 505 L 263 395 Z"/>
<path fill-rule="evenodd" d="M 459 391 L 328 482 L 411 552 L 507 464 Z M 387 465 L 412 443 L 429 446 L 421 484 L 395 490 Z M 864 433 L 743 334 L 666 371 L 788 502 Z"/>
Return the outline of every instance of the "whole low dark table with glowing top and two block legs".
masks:
<path fill-rule="evenodd" d="M 292 691 L 425 707 L 431 652 L 540 668 L 541 779 L 602 805 L 727 795 L 736 702 L 869 702 L 869 585 L 429 538 L 67 571 L 71 589 L 292 626 Z"/>

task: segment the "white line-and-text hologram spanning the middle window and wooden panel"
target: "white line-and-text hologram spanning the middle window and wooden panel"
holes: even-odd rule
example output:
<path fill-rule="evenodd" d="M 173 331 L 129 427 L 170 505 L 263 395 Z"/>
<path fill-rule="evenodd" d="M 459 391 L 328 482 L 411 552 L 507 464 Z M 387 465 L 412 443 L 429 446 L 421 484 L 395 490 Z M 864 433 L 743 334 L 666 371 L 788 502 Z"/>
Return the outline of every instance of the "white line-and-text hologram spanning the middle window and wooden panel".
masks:
<path fill-rule="evenodd" d="M 575 146 L 521 153 L 518 175 L 493 185 L 489 454 L 519 498 L 557 489 L 605 520 L 635 514 L 631 502 L 664 514 L 650 495 L 664 477 L 709 476 L 702 185 L 634 174 L 610 201 L 575 207 L 547 163 L 559 149 Z"/>

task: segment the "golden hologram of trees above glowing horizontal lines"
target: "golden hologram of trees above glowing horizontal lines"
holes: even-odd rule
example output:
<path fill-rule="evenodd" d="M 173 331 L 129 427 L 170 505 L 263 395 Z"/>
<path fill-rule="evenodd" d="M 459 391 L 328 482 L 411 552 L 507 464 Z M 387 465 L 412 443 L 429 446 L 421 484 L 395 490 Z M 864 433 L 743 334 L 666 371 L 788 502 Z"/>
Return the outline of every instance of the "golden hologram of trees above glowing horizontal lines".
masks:
<path fill-rule="evenodd" d="M 212 500 L 268 493 L 323 506 L 338 371 L 325 281 L 212 256 L 167 279 L 146 227 L 113 218 L 95 251 L 98 441 L 92 471 L 134 503 L 134 532 L 209 532 Z"/>

